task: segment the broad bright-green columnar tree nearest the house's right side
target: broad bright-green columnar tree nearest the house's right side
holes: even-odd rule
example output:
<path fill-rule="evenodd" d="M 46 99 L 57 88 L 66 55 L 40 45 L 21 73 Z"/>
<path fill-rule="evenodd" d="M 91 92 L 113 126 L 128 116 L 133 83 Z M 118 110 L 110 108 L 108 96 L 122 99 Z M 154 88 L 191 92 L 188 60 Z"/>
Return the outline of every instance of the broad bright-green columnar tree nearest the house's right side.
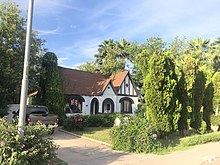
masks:
<path fill-rule="evenodd" d="M 169 52 L 154 54 L 144 77 L 147 118 L 156 124 L 162 135 L 177 128 L 179 109 L 176 104 L 177 77 Z"/>

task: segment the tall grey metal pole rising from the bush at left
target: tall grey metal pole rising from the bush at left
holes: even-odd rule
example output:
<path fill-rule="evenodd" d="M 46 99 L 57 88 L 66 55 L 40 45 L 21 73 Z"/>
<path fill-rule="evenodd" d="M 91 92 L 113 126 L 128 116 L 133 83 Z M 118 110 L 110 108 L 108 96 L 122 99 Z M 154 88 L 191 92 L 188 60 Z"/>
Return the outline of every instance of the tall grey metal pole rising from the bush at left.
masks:
<path fill-rule="evenodd" d="M 21 86 L 20 111 L 19 111 L 19 121 L 18 121 L 18 135 L 20 138 L 24 137 L 24 125 L 25 125 L 26 108 L 27 108 L 33 4 L 34 4 L 34 0 L 29 0 L 23 79 L 22 79 L 22 86 Z"/>

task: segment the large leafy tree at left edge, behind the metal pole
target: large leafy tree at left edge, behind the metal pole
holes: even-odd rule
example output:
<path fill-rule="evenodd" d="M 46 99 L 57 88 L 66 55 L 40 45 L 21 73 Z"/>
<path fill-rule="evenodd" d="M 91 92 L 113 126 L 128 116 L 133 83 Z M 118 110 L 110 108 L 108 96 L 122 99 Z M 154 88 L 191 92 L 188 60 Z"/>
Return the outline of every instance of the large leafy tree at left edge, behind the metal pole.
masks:
<path fill-rule="evenodd" d="M 0 4 L 0 109 L 9 103 L 19 103 L 25 48 L 26 19 L 16 3 Z M 37 73 L 44 41 L 32 34 L 29 91 L 36 90 Z M 4 108 L 3 108 L 4 109 Z"/>

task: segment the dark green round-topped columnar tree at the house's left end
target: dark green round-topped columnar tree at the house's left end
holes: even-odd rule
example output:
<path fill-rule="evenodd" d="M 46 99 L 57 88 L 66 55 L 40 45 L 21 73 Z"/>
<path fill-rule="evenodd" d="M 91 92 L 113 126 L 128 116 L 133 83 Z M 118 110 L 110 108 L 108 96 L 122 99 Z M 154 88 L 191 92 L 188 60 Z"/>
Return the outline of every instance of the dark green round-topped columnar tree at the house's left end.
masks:
<path fill-rule="evenodd" d="M 50 113 L 58 114 L 62 122 L 64 116 L 64 95 L 57 57 L 52 52 L 47 52 L 42 60 L 42 72 L 40 75 L 40 91 L 37 103 L 46 105 Z"/>

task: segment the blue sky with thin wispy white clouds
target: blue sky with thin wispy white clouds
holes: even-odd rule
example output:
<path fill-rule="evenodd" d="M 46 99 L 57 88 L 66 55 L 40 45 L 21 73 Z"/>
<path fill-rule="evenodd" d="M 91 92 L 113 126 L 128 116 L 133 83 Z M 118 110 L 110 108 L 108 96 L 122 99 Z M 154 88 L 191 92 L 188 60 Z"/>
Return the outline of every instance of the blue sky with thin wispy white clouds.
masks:
<path fill-rule="evenodd" d="M 27 10 L 28 0 L 14 1 Z M 219 0 L 35 0 L 33 29 L 59 65 L 76 67 L 110 38 L 220 37 L 219 6 Z"/>

